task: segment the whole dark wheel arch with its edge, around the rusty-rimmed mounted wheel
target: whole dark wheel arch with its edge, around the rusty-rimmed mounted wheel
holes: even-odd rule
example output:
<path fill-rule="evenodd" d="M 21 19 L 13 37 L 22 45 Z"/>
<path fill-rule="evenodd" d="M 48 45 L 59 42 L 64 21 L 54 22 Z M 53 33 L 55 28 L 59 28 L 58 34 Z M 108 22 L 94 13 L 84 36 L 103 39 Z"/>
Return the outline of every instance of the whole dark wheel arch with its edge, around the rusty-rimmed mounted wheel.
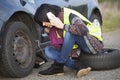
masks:
<path fill-rule="evenodd" d="M 36 40 L 40 39 L 40 32 L 38 31 L 40 28 L 40 26 L 34 21 L 33 19 L 33 15 L 32 14 L 28 14 L 26 12 L 23 11 L 18 11 L 15 12 L 2 26 L 1 28 L 1 32 L 0 32 L 0 45 L 2 47 L 2 39 L 4 37 L 4 32 L 7 30 L 7 24 L 9 22 L 13 22 L 13 21 L 20 21 L 23 22 L 25 25 L 27 25 L 27 27 L 29 28 L 30 32 L 32 33 L 32 36 L 34 38 L 34 42 Z M 36 45 L 37 48 L 37 45 Z"/>

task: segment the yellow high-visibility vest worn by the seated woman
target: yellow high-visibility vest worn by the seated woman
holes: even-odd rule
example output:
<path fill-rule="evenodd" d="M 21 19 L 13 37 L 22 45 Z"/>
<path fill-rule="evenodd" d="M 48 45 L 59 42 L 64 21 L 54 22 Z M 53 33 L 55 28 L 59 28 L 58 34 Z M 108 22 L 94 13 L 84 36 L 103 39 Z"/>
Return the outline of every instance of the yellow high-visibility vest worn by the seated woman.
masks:
<path fill-rule="evenodd" d="M 69 16 L 71 13 L 80 17 L 81 20 L 86 22 L 86 27 L 88 28 L 90 35 L 96 37 L 100 41 L 103 41 L 101 27 L 90 22 L 87 18 L 85 18 L 82 14 L 80 14 L 79 12 L 75 10 L 63 8 L 63 23 L 64 24 L 68 24 L 68 25 L 70 24 Z M 65 33 L 66 31 L 64 30 L 63 36 L 65 36 Z M 74 48 L 77 48 L 77 47 L 78 47 L 77 45 L 74 45 Z"/>

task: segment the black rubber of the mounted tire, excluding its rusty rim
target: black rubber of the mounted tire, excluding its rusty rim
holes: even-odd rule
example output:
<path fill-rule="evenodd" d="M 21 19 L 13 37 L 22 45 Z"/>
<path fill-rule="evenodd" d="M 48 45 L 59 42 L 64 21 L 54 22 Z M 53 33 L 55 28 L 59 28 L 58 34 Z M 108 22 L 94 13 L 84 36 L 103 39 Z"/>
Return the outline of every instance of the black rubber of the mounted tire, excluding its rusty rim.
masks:
<path fill-rule="evenodd" d="M 0 72 L 3 76 L 7 77 L 25 77 L 32 71 L 35 63 L 35 47 L 33 37 L 27 26 L 22 22 L 9 22 L 6 26 L 7 29 L 4 32 L 2 53 L 0 54 Z M 12 39 L 17 30 L 22 30 L 25 32 L 27 36 L 29 36 L 32 43 L 32 59 L 26 68 L 19 67 L 15 63 L 12 55 Z"/>

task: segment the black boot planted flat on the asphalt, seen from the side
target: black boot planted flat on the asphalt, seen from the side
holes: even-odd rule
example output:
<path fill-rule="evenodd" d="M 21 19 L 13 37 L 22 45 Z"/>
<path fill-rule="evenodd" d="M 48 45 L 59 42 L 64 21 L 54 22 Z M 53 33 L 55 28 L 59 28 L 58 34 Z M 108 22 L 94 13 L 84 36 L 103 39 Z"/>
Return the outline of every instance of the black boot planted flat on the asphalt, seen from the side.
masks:
<path fill-rule="evenodd" d="M 64 67 L 63 63 L 54 62 L 48 69 L 40 71 L 39 75 L 40 76 L 49 76 L 49 75 L 62 76 L 64 75 L 63 67 Z"/>

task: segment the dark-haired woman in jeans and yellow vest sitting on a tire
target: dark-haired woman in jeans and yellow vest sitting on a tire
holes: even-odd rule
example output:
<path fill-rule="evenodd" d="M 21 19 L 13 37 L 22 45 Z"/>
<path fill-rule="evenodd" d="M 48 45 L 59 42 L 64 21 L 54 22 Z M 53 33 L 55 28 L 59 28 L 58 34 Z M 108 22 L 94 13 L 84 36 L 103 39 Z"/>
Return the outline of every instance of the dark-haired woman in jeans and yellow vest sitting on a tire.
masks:
<path fill-rule="evenodd" d="M 51 18 L 48 19 L 47 13 L 51 12 Z M 68 14 L 69 13 L 69 14 Z M 61 18 L 58 18 L 58 15 Z M 74 44 L 77 44 L 81 51 L 86 54 L 96 54 L 102 47 L 101 35 L 91 35 L 86 24 L 81 20 L 77 13 L 69 9 L 61 9 L 58 6 L 43 4 L 36 13 L 35 20 L 42 26 L 53 27 L 66 31 L 64 34 L 64 41 L 60 49 L 48 46 L 45 49 L 45 54 L 49 59 L 54 60 L 54 63 L 46 70 L 40 71 L 40 75 L 63 75 L 64 65 L 76 70 L 77 77 L 88 74 L 91 71 L 91 67 L 86 67 L 69 57 L 72 52 Z M 99 29 L 96 29 L 101 33 Z M 90 45 L 90 43 L 93 45 Z M 94 44 L 95 43 L 95 44 Z M 97 43 L 97 44 L 96 44 Z M 89 45 L 89 47 L 88 47 Z"/>

